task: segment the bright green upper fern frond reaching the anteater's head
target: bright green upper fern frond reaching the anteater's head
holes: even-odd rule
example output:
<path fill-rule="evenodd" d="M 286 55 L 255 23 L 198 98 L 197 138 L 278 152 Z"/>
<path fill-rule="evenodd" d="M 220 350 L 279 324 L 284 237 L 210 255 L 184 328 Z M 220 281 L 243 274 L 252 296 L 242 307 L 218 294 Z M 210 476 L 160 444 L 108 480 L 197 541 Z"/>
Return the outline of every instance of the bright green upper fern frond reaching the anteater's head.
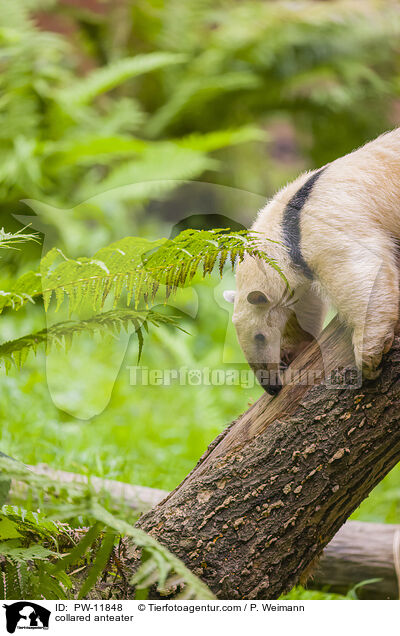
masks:
<path fill-rule="evenodd" d="M 0 293 L 0 311 L 18 309 L 27 301 L 42 295 L 45 309 L 55 296 L 57 308 L 69 298 L 70 312 L 77 311 L 83 301 L 100 312 L 111 292 L 116 306 L 123 290 L 127 304 L 132 296 L 137 309 L 143 302 L 153 302 L 161 285 L 167 299 L 179 287 L 189 285 L 202 267 L 203 276 L 211 274 L 218 264 L 222 273 L 229 260 L 232 268 L 245 254 L 259 258 L 287 283 L 277 262 L 268 257 L 265 245 L 276 243 L 261 239 L 251 231 L 229 232 L 228 229 L 185 230 L 174 239 L 149 241 L 126 237 L 101 248 L 92 258 L 68 259 L 53 248 L 42 259 L 42 274 L 29 272 L 10 291 Z M 61 262 L 57 264 L 57 258 Z"/>

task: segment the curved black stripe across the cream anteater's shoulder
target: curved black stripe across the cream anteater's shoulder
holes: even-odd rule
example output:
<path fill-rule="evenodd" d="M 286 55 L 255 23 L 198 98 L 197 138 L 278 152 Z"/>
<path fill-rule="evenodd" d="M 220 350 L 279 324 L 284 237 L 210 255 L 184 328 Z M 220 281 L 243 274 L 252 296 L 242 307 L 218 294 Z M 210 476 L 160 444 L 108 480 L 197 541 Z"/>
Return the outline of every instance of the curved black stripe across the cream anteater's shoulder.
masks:
<path fill-rule="evenodd" d="M 318 170 L 318 172 L 314 172 L 314 174 L 307 179 L 305 184 L 297 190 L 296 194 L 292 196 L 287 204 L 283 212 L 282 220 L 283 242 L 286 247 L 289 248 L 289 255 L 292 259 L 292 263 L 297 267 L 300 267 L 303 274 L 305 274 L 307 278 L 311 279 L 313 278 L 312 270 L 307 265 L 301 253 L 300 214 L 305 202 L 311 194 L 315 182 L 324 170 L 325 168 L 322 168 L 321 170 Z"/>

